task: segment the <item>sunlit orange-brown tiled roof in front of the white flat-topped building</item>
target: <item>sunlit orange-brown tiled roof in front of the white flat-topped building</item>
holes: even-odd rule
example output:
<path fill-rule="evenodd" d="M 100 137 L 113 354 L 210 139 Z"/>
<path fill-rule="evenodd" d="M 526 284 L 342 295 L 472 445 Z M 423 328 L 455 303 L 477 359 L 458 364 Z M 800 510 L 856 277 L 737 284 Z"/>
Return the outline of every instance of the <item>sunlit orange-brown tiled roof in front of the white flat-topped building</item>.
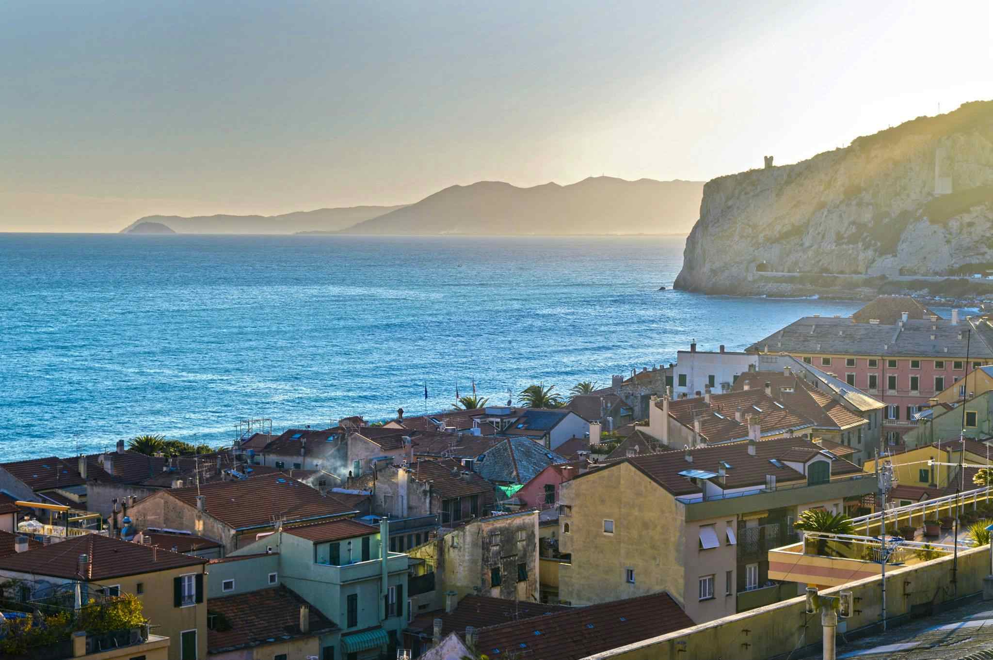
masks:
<path fill-rule="evenodd" d="M 656 405 L 661 408 L 662 402 L 658 401 Z M 735 420 L 739 408 L 743 412 L 741 422 Z M 781 400 L 766 396 L 761 389 L 713 394 L 710 403 L 706 402 L 706 397 L 669 402 L 669 416 L 691 431 L 695 428 L 694 420 L 700 419 L 700 435 L 703 442 L 710 444 L 748 438 L 749 415 L 758 418 L 765 434 L 801 431 L 815 425 L 808 417 L 787 408 Z"/>

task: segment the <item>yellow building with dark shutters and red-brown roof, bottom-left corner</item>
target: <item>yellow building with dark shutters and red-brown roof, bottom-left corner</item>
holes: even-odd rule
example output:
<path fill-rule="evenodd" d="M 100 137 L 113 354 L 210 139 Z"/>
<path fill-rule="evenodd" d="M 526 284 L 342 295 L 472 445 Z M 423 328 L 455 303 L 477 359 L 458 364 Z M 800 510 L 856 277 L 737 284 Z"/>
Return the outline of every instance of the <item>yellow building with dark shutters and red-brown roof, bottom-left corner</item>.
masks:
<path fill-rule="evenodd" d="M 207 563 L 86 534 L 0 558 L 0 578 L 22 581 L 34 599 L 71 593 L 76 583 L 87 601 L 97 594 L 135 594 L 153 629 L 173 640 L 169 660 L 206 660 Z"/>

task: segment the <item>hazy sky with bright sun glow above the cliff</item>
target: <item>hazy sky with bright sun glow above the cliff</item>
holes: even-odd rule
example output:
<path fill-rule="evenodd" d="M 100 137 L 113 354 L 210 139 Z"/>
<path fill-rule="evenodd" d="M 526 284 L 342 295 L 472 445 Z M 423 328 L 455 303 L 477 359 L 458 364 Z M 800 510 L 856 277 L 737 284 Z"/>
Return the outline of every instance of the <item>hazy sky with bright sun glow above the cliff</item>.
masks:
<path fill-rule="evenodd" d="M 989 0 L 5 0 L 0 230 L 707 180 L 991 97 Z"/>

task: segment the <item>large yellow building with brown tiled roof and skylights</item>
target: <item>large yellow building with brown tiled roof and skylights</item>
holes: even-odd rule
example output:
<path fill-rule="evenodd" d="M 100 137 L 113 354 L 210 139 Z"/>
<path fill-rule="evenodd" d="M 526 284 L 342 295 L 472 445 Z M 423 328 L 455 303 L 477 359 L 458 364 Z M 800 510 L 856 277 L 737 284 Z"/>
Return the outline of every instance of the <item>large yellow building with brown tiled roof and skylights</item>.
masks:
<path fill-rule="evenodd" d="M 559 598 L 586 605 L 667 592 L 697 623 L 798 594 L 768 551 L 807 509 L 873 492 L 859 467 L 801 438 L 629 457 L 562 484 Z"/>

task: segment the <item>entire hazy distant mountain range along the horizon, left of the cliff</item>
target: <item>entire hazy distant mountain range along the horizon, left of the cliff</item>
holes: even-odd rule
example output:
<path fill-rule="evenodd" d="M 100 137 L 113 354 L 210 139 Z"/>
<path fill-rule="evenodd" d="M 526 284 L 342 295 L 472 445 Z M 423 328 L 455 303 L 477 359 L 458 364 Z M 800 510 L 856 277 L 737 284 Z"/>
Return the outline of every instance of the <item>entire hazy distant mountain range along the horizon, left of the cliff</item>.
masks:
<path fill-rule="evenodd" d="M 591 177 L 569 186 L 502 182 L 452 186 L 403 206 L 322 208 L 285 215 L 150 215 L 178 233 L 638 234 L 687 233 L 703 182 Z"/>

